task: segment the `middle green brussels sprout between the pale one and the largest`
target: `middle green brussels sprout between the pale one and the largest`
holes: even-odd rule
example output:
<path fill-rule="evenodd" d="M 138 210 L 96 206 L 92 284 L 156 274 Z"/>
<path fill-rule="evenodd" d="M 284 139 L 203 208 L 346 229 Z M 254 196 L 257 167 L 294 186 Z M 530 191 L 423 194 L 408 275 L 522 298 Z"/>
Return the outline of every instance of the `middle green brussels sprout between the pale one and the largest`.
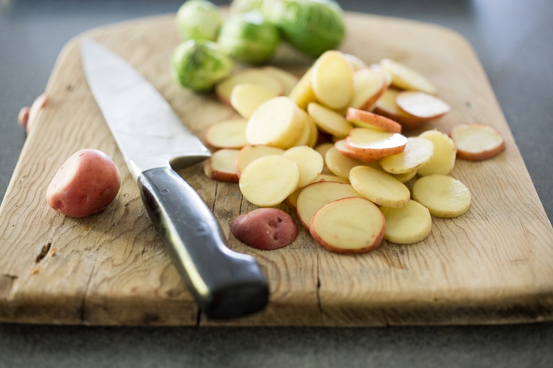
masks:
<path fill-rule="evenodd" d="M 261 64 L 272 57 L 280 44 L 279 29 L 258 11 L 235 14 L 220 28 L 217 42 L 230 57 Z"/>

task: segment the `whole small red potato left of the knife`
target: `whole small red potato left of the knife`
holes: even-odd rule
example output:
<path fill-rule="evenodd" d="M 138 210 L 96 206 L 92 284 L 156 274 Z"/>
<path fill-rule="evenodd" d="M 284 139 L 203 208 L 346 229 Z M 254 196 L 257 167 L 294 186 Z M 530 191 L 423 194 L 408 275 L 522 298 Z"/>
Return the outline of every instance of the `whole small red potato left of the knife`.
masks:
<path fill-rule="evenodd" d="M 46 200 L 66 216 L 86 217 L 113 202 L 120 187 L 121 174 L 109 156 L 97 149 L 81 149 L 52 178 Z"/>

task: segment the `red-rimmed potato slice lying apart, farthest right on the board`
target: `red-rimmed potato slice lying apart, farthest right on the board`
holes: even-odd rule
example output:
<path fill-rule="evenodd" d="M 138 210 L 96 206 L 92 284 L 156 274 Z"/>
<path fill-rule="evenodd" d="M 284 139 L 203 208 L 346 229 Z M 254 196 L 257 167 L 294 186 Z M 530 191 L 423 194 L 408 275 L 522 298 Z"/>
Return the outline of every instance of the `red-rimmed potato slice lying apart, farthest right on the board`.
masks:
<path fill-rule="evenodd" d="M 459 159 L 481 161 L 501 154 L 505 139 L 493 127 L 484 124 L 463 124 L 453 127 L 451 133 Z"/>

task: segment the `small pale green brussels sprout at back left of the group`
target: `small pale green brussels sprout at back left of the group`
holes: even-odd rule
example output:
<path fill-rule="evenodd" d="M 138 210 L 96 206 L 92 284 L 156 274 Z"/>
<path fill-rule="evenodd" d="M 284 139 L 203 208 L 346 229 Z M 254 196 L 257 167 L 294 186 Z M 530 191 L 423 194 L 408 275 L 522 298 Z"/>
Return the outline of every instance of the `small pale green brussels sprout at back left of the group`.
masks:
<path fill-rule="evenodd" d="M 182 40 L 215 41 L 223 14 L 208 0 L 187 0 L 179 7 L 175 18 Z"/>

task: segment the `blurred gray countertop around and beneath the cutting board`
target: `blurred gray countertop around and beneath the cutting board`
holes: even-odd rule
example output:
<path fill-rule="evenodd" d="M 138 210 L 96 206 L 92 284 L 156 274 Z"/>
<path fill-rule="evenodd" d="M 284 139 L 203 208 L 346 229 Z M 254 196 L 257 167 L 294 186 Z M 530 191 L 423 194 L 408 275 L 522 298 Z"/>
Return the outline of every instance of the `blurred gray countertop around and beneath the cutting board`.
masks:
<path fill-rule="evenodd" d="M 339 2 L 347 11 L 436 23 L 467 38 L 551 221 L 553 1 Z M 172 13 L 180 4 L 0 0 L 0 198 L 26 139 L 17 124 L 18 112 L 44 91 L 63 45 L 89 28 Z M 0 367 L 553 367 L 552 346 L 553 323 L 386 328 L 0 323 Z"/>

